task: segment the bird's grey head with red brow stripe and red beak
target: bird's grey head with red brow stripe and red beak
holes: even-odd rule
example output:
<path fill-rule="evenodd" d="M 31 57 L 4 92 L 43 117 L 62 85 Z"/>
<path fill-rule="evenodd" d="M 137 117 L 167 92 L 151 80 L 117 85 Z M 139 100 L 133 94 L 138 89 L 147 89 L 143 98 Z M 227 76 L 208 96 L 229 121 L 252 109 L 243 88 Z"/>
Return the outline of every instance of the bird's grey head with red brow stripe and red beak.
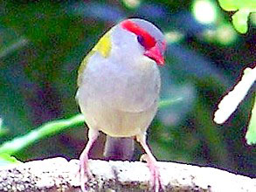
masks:
<path fill-rule="evenodd" d="M 129 18 L 117 24 L 112 31 L 115 45 L 131 54 L 142 52 L 144 56 L 164 65 L 166 41 L 163 32 L 154 24 L 140 18 Z"/>

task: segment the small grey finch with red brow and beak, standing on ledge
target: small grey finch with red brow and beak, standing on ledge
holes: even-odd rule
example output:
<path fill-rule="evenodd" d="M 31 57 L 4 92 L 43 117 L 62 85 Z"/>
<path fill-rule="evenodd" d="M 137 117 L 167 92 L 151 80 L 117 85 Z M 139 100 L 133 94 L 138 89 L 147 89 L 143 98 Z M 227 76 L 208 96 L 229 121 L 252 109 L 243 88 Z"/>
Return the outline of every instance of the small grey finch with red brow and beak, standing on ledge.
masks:
<path fill-rule="evenodd" d="M 100 131 L 107 134 L 107 157 L 116 149 L 124 159 L 130 158 L 134 139 L 138 141 L 146 153 L 142 159 L 148 163 L 152 189 L 162 188 L 146 131 L 157 111 L 161 86 L 158 65 L 164 65 L 165 49 L 163 33 L 154 24 L 128 18 L 107 31 L 82 61 L 76 99 L 89 127 L 88 141 L 80 154 L 83 191 L 85 182 L 93 177 L 88 153 Z"/>

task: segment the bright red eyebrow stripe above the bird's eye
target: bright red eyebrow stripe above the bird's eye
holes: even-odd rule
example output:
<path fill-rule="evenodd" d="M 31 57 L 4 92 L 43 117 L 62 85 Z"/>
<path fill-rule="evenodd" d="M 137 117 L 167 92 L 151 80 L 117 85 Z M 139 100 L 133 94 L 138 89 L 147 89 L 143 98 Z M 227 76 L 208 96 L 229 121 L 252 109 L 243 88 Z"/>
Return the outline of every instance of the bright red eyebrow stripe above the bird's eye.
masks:
<path fill-rule="evenodd" d="M 144 38 L 144 46 L 146 50 L 149 50 L 151 47 L 156 45 L 156 40 L 153 38 L 149 32 L 143 30 L 139 25 L 135 24 L 130 20 L 125 20 L 121 22 L 121 27 L 135 33 L 135 35 L 140 35 Z"/>

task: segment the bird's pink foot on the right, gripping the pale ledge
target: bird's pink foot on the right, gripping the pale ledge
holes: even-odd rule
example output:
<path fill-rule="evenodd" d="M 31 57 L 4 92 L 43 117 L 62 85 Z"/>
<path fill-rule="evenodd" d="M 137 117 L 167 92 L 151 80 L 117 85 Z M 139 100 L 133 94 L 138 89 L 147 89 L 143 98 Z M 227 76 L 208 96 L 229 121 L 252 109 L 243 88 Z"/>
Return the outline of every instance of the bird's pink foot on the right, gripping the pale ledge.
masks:
<path fill-rule="evenodd" d="M 148 154 L 142 154 L 140 161 L 146 161 L 150 171 L 150 186 L 152 191 L 159 192 L 164 190 L 159 168 L 156 166 L 156 159 L 149 158 Z"/>

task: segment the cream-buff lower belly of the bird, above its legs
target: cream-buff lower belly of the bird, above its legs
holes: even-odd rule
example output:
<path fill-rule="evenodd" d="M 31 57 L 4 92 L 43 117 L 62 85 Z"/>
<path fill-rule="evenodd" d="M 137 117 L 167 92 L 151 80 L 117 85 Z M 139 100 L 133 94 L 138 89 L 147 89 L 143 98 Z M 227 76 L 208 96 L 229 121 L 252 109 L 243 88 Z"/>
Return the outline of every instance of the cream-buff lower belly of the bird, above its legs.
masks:
<path fill-rule="evenodd" d="M 86 101 L 86 105 L 80 106 L 88 127 L 97 128 L 112 137 L 131 137 L 144 133 L 157 109 L 155 102 L 145 111 L 130 113 L 108 106 L 104 99 L 86 98 Z"/>

